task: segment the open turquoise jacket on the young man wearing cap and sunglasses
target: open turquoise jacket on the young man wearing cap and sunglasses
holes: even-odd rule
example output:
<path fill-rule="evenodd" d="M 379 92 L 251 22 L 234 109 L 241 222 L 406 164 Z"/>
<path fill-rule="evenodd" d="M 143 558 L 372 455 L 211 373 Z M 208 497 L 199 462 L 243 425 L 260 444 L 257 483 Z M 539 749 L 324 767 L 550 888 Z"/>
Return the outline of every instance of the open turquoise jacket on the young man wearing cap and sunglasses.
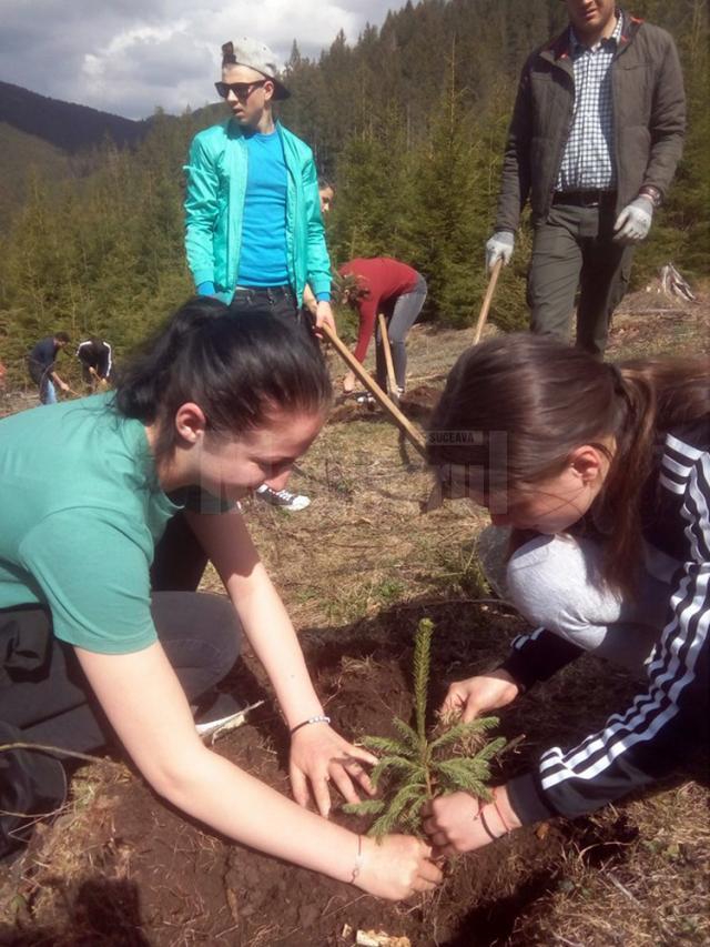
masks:
<path fill-rule="evenodd" d="M 306 283 L 316 296 L 331 291 L 331 260 L 325 245 L 313 152 L 280 122 L 276 129 L 288 173 L 288 282 L 301 305 Z M 187 161 L 184 165 L 187 265 L 195 286 L 214 283 L 220 299 L 229 303 L 240 271 L 246 195 L 246 142 L 237 122 L 227 119 L 196 134 Z"/>

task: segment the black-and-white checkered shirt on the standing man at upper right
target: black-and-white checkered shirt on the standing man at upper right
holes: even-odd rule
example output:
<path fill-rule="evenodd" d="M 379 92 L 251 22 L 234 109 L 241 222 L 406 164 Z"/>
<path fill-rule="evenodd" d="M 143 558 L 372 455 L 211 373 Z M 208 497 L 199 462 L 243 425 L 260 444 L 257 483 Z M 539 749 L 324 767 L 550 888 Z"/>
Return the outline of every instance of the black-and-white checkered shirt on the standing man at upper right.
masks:
<path fill-rule="evenodd" d="M 557 191 L 613 191 L 613 104 L 611 62 L 621 38 L 621 17 L 609 39 L 584 46 L 569 28 L 569 48 L 575 70 L 572 127 L 557 178 Z"/>

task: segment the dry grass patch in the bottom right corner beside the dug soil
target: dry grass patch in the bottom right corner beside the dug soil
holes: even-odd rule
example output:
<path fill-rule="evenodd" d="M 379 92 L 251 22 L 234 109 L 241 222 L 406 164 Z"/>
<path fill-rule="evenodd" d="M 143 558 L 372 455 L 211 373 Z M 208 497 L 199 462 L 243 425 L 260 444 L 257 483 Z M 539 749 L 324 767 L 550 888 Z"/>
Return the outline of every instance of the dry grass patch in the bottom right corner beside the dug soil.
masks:
<path fill-rule="evenodd" d="M 595 816 L 599 843 L 571 846 L 556 890 L 516 944 L 576 947 L 656 947 L 710 944 L 710 825 L 708 792 L 696 783 Z M 636 837 L 613 836 L 622 818 Z M 595 849 L 602 854 L 598 859 Z"/>

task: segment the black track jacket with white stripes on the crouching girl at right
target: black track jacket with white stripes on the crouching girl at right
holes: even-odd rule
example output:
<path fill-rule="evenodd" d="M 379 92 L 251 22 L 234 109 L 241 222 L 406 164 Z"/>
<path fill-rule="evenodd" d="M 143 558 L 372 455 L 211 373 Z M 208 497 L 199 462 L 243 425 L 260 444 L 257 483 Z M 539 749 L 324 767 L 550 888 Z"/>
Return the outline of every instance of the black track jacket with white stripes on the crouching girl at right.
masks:
<path fill-rule="evenodd" d="M 668 434 L 646 484 L 647 548 L 679 563 L 648 686 L 572 749 L 552 747 L 508 792 L 524 823 L 578 816 L 671 773 L 708 739 L 710 674 L 710 419 Z M 582 654 L 546 629 L 514 642 L 504 664 L 523 686 Z"/>

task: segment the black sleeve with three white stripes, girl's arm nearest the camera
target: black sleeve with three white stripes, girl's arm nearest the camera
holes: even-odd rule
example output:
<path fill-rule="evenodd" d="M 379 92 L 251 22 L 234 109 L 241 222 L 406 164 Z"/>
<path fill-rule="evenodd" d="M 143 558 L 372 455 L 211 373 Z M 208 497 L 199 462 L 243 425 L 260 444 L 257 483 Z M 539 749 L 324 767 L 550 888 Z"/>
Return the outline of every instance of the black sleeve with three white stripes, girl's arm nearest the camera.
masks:
<path fill-rule="evenodd" d="M 673 437 L 661 487 L 678 501 L 686 562 L 648 667 L 648 688 L 604 729 L 569 750 L 552 747 L 537 772 L 509 786 L 524 822 L 577 816 L 672 772 L 689 746 L 707 741 L 710 625 L 710 454 Z"/>

